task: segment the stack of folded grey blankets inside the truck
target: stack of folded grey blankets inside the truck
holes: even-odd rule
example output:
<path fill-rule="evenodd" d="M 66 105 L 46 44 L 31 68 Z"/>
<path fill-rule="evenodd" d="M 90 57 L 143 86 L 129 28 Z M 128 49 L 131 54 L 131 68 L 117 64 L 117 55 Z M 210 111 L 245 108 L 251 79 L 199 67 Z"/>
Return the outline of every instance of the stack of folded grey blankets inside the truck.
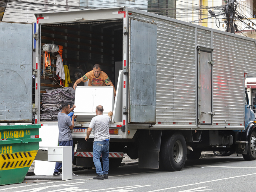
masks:
<path fill-rule="evenodd" d="M 42 96 L 41 121 L 57 121 L 58 113 L 61 111 L 61 104 L 67 102 L 70 108 L 75 103 L 75 90 L 71 87 L 46 89 Z"/>

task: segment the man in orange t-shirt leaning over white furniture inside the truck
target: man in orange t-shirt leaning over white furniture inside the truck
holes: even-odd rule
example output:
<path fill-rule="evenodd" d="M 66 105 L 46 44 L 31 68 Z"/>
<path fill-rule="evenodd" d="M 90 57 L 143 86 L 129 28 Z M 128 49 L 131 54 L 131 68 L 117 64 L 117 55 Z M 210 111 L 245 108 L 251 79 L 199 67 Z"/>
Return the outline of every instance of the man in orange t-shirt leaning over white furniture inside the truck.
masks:
<path fill-rule="evenodd" d="M 89 71 L 83 77 L 81 77 L 80 79 L 76 80 L 73 88 L 75 89 L 75 87 L 77 86 L 78 83 L 81 83 L 82 81 L 86 82 L 88 80 L 89 80 L 89 82 L 88 82 L 89 86 L 106 86 L 106 85 L 110 85 L 111 87 L 114 88 L 114 93 L 116 94 L 115 86 L 113 85 L 113 83 L 111 82 L 111 80 L 109 79 L 107 74 L 104 73 L 103 71 L 101 71 L 101 66 L 99 64 L 95 64 L 93 66 L 93 70 L 92 71 Z"/>

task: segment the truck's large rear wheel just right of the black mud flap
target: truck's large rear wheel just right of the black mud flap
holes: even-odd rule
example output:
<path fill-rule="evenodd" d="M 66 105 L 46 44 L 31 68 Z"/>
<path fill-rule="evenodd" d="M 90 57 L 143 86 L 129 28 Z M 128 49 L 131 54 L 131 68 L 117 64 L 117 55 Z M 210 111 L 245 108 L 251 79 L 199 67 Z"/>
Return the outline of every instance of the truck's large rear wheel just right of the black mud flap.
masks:
<path fill-rule="evenodd" d="M 163 140 L 160 157 L 164 170 L 180 171 L 184 167 L 186 155 L 187 145 L 181 133 L 173 133 Z"/>

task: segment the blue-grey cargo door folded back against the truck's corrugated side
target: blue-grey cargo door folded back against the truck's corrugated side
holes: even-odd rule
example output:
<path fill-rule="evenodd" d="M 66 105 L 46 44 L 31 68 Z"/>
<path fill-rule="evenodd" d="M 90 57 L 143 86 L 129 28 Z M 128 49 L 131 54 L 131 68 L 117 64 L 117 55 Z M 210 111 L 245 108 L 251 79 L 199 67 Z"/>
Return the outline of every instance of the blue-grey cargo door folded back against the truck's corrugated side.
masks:
<path fill-rule="evenodd" d="M 130 19 L 129 123 L 156 123 L 157 25 Z"/>

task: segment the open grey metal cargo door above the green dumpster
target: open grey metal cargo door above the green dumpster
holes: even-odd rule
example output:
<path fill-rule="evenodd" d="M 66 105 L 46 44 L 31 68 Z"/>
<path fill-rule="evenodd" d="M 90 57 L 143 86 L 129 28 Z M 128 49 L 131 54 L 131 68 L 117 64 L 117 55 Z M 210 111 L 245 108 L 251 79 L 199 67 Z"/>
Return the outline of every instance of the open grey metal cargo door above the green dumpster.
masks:
<path fill-rule="evenodd" d="M 32 122 L 32 24 L 0 22 L 0 123 Z"/>

